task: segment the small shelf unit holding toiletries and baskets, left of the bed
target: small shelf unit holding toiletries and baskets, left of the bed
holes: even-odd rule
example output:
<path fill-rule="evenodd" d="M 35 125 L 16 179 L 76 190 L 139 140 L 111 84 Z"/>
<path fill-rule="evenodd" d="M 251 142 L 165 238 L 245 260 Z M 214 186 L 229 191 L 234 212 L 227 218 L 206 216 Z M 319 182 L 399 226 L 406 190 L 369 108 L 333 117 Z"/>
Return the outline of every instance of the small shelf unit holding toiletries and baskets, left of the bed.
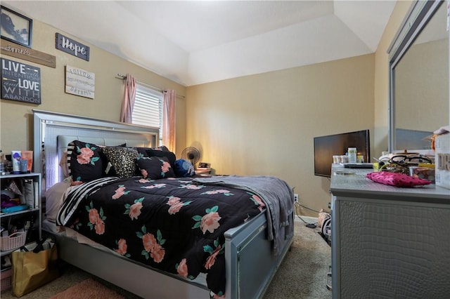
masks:
<path fill-rule="evenodd" d="M 41 214 L 41 173 L 23 173 L 23 174 L 7 174 L 0 175 L 1 190 L 4 190 L 11 180 L 20 182 L 20 180 L 32 180 L 33 182 L 33 195 L 34 204 L 30 206 L 27 210 L 13 212 L 13 213 L 0 213 L 1 226 L 7 229 L 7 224 L 15 220 L 30 220 L 32 225 L 27 231 L 27 240 L 25 244 L 30 241 L 35 241 L 36 239 L 41 239 L 41 224 L 42 224 L 42 214 Z M 0 255 L 8 255 L 15 251 L 17 248 L 12 248 L 8 251 L 0 251 Z"/>

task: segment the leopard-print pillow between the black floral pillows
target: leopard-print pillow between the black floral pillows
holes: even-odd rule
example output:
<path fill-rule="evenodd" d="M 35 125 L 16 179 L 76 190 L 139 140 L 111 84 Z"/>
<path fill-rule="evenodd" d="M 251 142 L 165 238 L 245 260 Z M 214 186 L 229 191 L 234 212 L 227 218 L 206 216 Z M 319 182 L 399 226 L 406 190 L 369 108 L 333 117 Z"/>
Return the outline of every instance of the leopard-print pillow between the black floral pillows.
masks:
<path fill-rule="evenodd" d="M 103 153 L 108 159 L 105 174 L 119 178 L 131 178 L 136 172 L 134 159 L 139 153 L 133 147 L 103 147 Z"/>

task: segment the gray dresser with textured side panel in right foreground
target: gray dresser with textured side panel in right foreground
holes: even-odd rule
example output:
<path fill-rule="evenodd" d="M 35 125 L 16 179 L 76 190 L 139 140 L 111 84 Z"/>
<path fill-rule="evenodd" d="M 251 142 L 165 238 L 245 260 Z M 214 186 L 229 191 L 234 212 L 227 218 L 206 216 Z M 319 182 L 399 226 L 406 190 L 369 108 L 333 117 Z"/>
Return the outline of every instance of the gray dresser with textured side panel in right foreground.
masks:
<path fill-rule="evenodd" d="M 450 190 L 333 167 L 333 298 L 450 298 Z"/>

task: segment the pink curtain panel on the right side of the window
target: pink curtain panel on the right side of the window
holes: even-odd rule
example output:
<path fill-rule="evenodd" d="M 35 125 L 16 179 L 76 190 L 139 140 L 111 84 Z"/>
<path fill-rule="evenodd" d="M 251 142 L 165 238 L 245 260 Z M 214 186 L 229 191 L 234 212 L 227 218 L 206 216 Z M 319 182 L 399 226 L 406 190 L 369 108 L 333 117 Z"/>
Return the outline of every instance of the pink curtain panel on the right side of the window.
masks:
<path fill-rule="evenodd" d="M 162 100 L 162 145 L 175 152 L 175 99 L 176 93 L 169 89 L 164 92 Z"/>

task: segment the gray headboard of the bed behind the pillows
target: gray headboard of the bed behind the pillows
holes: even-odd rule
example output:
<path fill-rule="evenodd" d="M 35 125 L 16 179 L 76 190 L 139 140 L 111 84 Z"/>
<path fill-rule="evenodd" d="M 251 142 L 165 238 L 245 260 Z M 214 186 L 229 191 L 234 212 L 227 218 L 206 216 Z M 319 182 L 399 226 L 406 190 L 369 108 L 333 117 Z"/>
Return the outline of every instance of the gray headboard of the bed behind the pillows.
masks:
<path fill-rule="evenodd" d="M 60 157 L 72 140 L 97 145 L 157 147 L 158 128 L 33 109 L 34 172 L 42 174 L 42 191 L 63 180 Z M 44 193 L 43 193 L 44 194 Z"/>

